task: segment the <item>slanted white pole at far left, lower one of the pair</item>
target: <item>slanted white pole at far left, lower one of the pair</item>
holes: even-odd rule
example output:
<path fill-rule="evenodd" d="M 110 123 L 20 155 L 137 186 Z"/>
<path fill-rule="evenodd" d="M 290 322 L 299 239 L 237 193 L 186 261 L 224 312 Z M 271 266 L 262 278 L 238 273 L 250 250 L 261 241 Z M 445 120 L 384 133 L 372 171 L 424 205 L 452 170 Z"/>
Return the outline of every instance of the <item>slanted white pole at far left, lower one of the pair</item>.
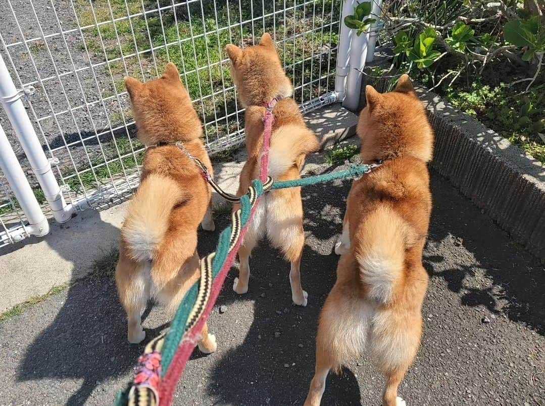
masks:
<path fill-rule="evenodd" d="M 4 172 L 11 192 L 17 198 L 21 210 L 25 213 L 28 220 L 28 225 L 25 225 L 25 230 L 29 235 L 42 237 L 49 233 L 49 223 L 41 211 L 38 200 L 32 192 L 31 186 L 28 184 L 25 172 L 21 169 L 19 160 L 15 156 L 15 152 L 11 148 L 8 137 L 5 135 L 4 129 L 0 125 L 0 168 Z M 22 236 L 19 236 L 22 239 Z M 19 238 L 14 238 L 16 241 Z"/>

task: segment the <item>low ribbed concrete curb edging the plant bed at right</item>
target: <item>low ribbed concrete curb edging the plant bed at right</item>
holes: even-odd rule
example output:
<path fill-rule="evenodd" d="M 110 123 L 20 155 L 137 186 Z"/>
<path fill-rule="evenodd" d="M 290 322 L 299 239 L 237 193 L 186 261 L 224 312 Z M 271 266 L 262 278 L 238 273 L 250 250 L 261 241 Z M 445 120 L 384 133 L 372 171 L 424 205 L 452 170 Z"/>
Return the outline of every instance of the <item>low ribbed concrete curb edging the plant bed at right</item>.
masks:
<path fill-rule="evenodd" d="M 388 83 L 382 78 L 367 84 L 383 92 Z M 425 88 L 417 93 L 435 130 L 433 168 L 545 262 L 543 165 L 439 95 Z M 365 86 L 360 100 L 365 105 Z"/>

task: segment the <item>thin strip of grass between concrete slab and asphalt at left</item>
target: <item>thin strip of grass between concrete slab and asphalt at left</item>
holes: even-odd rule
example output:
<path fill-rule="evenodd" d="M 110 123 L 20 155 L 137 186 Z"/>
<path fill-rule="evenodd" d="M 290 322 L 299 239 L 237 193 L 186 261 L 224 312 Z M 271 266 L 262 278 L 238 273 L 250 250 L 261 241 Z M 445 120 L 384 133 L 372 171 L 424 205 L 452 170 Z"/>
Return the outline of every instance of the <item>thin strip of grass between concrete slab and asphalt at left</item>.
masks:
<path fill-rule="evenodd" d="M 0 323 L 21 315 L 29 308 L 45 301 L 52 296 L 61 294 L 75 283 L 82 283 L 88 280 L 97 280 L 100 278 L 113 278 L 118 258 L 119 251 L 117 248 L 107 250 L 102 254 L 102 256 L 100 256 L 100 258 L 96 259 L 93 262 L 91 272 L 87 274 L 87 276 L 84 276 L 83 278 L 77 279 L 75 281 L 71 281 L 70 283 L 67 282 L 62 285 L 55 285 L 46 294 L 33 296 L 25 302 L 17 304 L 17 306 L 14 306 L 0 314 Z"/>

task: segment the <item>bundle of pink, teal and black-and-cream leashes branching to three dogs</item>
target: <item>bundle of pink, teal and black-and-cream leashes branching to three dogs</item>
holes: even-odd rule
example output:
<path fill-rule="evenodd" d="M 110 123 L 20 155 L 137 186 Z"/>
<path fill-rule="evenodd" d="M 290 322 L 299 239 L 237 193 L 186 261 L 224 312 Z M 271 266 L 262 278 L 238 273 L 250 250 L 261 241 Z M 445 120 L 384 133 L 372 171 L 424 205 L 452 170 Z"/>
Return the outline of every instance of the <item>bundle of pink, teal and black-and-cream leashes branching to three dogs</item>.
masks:
<path fill-rule="evenodd" d="M 220 234 L 216 252 L 207 255 L 201 260 L 201 278 L 187 291 L 178 311 L 172 321 L 171 328 L 166 334 L 152 340 L 138 359 L 137 375 L 128 393 L 128 402 L 124 394 L 118 393 L 116 405 L 129 406 L 161 406 L 170 405 L 176 384 L 184 371 L 187 360 L 202 338 L 201 332 L 208 319 L 217 296 L 220 294 L 223 282 L 227 276 L 240 244 L 246 234 L 250 220 L 261 196 L 270 189 L 305 186 L 309 184 L 329 182 L 336 179 L 361 176 L 370 172 L 375 165 L 358 165 L 348 170 L 333 174 L 318 175 L 292 181 L 276 182 L 268 176 L 269 147 L 274 115 L 272 109 L 276 99 L 267 105 L 263 117 L 263 147 L 259 180 L 254 180 L 248 193 L 241 198 L 224 192 L 214 181 L 207 166 L 201 160 L 193 157 L 183 144 L 176 145 L 201 169 L 203 178 L 224 199 L 231 202 L 240 202 L 241 208 L 231 217 L 231 226 Z M 190 305 L 193 303 L 193 306 Z M 161 380 L 162 377 L 162 380 Z"/>

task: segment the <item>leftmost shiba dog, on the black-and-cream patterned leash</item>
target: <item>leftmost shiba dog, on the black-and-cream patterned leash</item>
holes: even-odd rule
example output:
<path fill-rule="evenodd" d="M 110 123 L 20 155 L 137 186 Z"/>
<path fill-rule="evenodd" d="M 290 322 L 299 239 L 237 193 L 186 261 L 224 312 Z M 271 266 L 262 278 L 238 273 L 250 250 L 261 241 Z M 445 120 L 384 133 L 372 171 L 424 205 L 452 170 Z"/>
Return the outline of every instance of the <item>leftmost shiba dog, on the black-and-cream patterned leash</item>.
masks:
<path fill-rule="evenodd" d="M 129 204 L 121 231 L 116 284 L 128 317 L 129 342 L 144 339 L 140 315 L 149 297 L 173 312 L 199 278 L 197 228 L 213 229 L 211 192 L 199 169 L 179 147 L 212 167 L 199 137 L 201 122 L 173 63 L 160 79 L 125 78 L 138 138 L 149 148 L 140 187 Z M 214 336 L 203 331 L 199 348 L 213 352 Z"/>

